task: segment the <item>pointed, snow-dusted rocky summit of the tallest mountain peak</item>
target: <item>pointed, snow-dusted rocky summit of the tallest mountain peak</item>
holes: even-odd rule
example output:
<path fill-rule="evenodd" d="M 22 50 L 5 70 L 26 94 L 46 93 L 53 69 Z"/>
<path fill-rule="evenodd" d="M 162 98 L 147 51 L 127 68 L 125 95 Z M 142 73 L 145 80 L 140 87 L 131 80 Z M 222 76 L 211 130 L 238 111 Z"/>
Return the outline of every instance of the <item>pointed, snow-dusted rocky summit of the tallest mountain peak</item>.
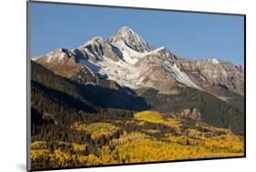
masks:
<path fill-rule="evenodd" d="M 128 26 L 122 26 L 118 29 L 116 35 L 111 36 L 108 39 L 108 42 L 115 45 L 119 42 L 124 42 L 129 48 L 139 52 L 149 52 L 154 50 L 154 48 L 140 36 L 135 31 L 133 31 Z"/>

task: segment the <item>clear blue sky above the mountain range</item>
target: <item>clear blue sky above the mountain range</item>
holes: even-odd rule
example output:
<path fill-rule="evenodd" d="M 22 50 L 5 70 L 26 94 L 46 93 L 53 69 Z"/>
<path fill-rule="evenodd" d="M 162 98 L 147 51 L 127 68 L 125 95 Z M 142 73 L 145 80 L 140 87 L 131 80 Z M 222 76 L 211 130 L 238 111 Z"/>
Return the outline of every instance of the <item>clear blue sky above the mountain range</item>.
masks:
<path fill-rule="evenodd" d="M 243 16 L 31 3 L 31 55 L 107 39 L 127 25 L 149 44 L 190 59 L 244 61 Z"/>

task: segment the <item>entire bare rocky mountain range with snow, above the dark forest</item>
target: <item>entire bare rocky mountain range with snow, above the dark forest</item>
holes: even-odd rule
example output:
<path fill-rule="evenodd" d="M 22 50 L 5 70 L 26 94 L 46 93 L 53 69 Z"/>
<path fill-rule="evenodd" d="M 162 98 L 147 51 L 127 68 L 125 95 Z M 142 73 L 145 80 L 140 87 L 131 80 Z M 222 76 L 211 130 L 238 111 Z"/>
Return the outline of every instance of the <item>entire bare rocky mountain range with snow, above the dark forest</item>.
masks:
<path fill-rule="evenodd" d="M 153 87 L 161 94 L 177 94 L 177 86 L 189 86 L 228 101 L 222 90 L 244 95 L 244 67 L 218 59 L 192 61 L 175 56 L 166 47 L 154 48 L 127 26 L 108 40 L 95 36 L 73 50 L 60 48 L 35 61 L 59 76 L 113 80 L 137 90 Z"/>

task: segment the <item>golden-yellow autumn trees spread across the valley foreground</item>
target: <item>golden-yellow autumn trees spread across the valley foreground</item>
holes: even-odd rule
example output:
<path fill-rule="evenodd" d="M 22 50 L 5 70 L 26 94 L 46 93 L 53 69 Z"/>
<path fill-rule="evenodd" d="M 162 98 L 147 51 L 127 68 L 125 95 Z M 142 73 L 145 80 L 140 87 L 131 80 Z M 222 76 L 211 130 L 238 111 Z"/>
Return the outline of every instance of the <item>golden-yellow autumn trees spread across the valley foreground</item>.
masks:
<path fill-rule="evenodd" d="M 161 125 L 172 130 L 162 131 Z M 136 126 L 140 129 L 129 131 L 124 126 Z M 112 136 L 118 130 L 118 137 L 110 137 L 95 152 L 87 152 L 88 143 L 77 144 L 56 141 L 50 147 L 46 141 L 31 143 L 32 162 L 47 161 L 51 167 L 81 167 L 120 163 L 138 163 L 150 161 L 168 161 L 177 159 L 195 159 L 210 157 L 240 157 L 244 155 L 244 137 L 234 135 L 230 129 L 210 126 L 197 121 L 194 126 L 184 127 L 179 116 L 164 116 L 156 111 L 143 111 L 133 119 L 115 122 L 97 122 L 92 124 L 75 123 L 71 128 L 87 131 L 93 139 L 102 135 Z M 161 137 L 154 137 L 163 132 Z"/>

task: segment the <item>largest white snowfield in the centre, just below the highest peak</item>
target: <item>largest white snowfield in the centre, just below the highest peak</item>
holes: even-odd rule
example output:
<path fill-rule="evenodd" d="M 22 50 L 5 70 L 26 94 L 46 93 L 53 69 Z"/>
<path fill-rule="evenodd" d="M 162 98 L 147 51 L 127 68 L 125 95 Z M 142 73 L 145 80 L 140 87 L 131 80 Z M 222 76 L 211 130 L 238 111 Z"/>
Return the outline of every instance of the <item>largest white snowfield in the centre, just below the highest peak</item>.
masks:
<path fill-rule="evenodd" d="M 151 86 L 150 82 L 147 84 L 143 83 L 143 80 L 148 76 L 146 72 L 148 64 L 142 67 L 134 66 L 135 63 L 138 62 L 139 59 L 147 58 L 150 54 L 158 53 L 164 47 L 159 47 L 151 52 L 147 53 L 134 53 L 132 49 L 128 49 L 127 46 L 124 46 L 126 50 L 121 50 L 123 54 L 123 59 L 118 61 L 112 60 L 108 58 L 108 56 L 101 57 L 102 60 L 97 62 L 92 62 L 87 59 L 82 59 L 81 63 L 87 68 L 90 68 L 95 73 L 100 75 L 108 76 L 108 80 L 115 80 L 120 86 L 128 86 L 130 88 L 138 89 L 140 87 Z M 134 53 L 134 54 L 133 54 Z M 133 59 L 130 59 L 132 56 Z"/>

